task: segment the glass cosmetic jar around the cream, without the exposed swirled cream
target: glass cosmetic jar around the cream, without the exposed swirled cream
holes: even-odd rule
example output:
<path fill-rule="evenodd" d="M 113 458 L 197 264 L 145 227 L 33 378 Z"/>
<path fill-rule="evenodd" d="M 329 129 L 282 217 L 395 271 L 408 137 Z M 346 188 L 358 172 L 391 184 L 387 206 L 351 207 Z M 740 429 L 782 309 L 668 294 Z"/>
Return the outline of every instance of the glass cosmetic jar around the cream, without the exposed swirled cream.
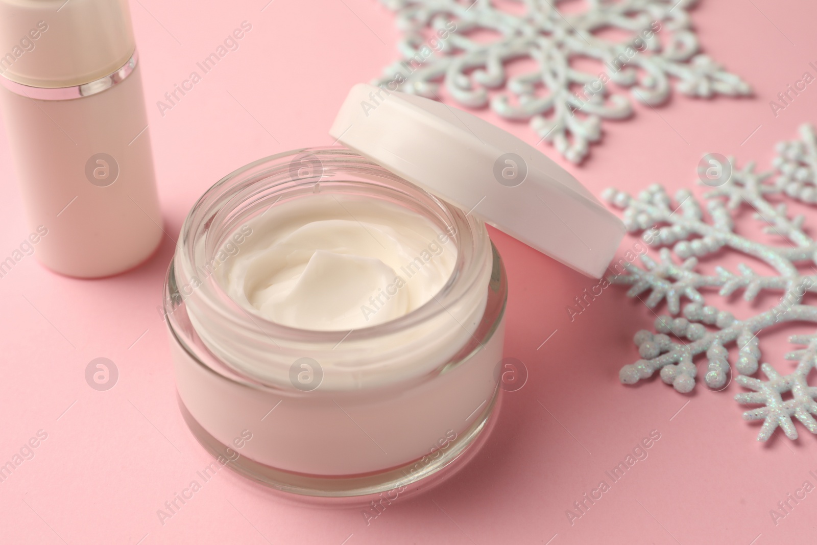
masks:
<path fill-rule="evenodd" d="M 417 309 L 351 331 L 276 324 L 228 297 L 220 270 L 261 236 L 248 226 L 326 196 L 431 221 L 447 235 L 440 243 L 455 245 L 453 274 Z M 275 489 L 328 498 L 417 488 L 487 435 L 506 301 L 502 259 L 473 215 L 346 148 L 261 159 L 203 194 L 167 272 L 181 411 L 221 465 Z"/>

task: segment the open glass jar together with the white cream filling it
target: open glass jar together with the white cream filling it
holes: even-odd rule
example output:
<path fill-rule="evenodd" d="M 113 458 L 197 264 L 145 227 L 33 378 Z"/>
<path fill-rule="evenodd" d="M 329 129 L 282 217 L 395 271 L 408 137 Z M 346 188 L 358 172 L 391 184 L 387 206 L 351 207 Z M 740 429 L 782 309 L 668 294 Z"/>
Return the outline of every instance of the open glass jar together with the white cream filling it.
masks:
<path fill-rule="evenodd" d="M 309 153 L 319 180 L 292 176 L 301 152 L 252 163 L 182 226 L 165 298 L 181 410 L 274 488 L 404 490 L 489 426 L 502 261 L 461 209 L 349 150 Z"/>

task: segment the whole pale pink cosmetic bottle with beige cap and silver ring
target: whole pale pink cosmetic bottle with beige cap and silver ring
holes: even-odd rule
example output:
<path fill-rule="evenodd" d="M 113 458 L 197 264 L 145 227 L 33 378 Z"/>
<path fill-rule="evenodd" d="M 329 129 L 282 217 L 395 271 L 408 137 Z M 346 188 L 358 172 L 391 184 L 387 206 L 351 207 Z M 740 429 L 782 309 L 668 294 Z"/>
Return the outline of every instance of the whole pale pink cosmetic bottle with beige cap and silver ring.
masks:
<path fill-rule="evenodd" d="M 0 0 L 0 111 L 43 265 L 98 278 L 163 234 L 127 0 Z"/>

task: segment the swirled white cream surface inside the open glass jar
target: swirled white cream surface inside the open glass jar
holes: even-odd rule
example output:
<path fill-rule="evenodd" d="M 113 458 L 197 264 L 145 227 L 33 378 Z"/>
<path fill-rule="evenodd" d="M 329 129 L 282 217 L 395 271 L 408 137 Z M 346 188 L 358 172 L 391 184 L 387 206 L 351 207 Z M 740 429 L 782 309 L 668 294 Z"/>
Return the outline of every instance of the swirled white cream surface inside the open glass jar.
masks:
<path fill-rule="evenodd" d="M 450 278 L 457 248 L 426 217 L 393 203 L 315 195 L 254 218 L 220 270 L 230 297 L 292 328 L 349 331 L 399 318 Z"/>

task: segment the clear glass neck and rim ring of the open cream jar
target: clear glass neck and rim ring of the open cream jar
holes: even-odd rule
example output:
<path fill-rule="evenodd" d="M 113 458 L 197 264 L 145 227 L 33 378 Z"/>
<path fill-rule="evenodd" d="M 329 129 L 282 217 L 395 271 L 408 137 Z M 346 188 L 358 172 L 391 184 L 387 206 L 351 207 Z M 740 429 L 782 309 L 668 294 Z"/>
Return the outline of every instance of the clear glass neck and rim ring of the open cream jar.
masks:
<path fill-rule="evenodd" d="M 301 176 L 297 168 L 293 174 L 292 163 L 300 165 L 298 158 L 305 155 L 320 164 L 317 175 Z M 206 272 L 202 264 L 241 224 L 251 225 L 276 203 L 314 194 L 382 199 L 424 215 L 440 230 L 453 227 L 446 240 L 457 248 L 451 277 L 431 300 L 398 318 L 320 331 L 249 311 L 228 295 L 218 271 L 196 276 Z M 354 151 L 333 146 L 258 159 L 212 185 L 185 218 L 164 295 L 171 332 L 213 371 L 240 382 L 300 390 L 292 373 L 297 376 L 293 369 L 306 358 L 321 370 L 321 391 L 337 393 L 405 386 L 454 369 L 493 335 L 507 288 L 483 221 Z"/>

